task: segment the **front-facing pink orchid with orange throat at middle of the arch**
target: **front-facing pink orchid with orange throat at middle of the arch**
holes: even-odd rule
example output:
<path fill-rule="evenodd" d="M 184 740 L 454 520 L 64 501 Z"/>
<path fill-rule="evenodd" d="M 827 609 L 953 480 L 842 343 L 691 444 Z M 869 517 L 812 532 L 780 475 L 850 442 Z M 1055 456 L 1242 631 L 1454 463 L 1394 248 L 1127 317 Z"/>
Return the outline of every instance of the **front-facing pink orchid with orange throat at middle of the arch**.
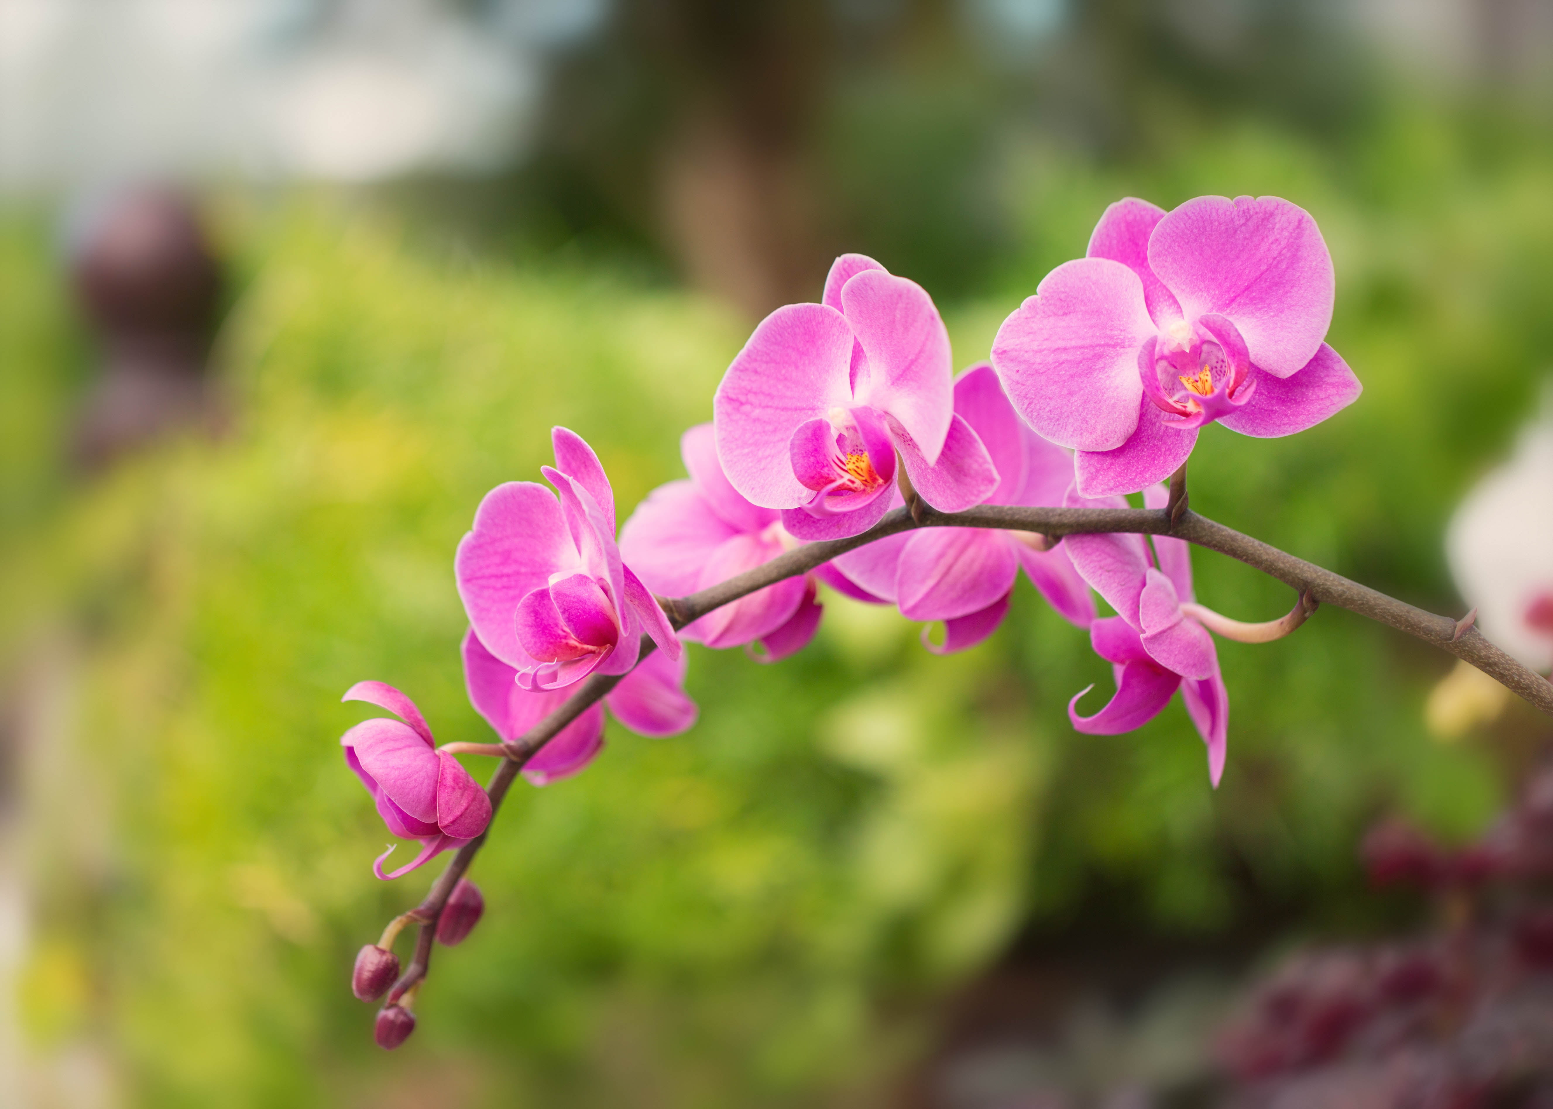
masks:
<path fill-rule="evenodd" d="M 950 398 L 949 332 L 915 281 L 842 255 L 820 304 L 767 315 L 713 399 L 728 481 L 781 511 L 798 539 L 839 539 L 884 516 L 896 457 L 916 492 L 957 513 L 997 471 Z"/>

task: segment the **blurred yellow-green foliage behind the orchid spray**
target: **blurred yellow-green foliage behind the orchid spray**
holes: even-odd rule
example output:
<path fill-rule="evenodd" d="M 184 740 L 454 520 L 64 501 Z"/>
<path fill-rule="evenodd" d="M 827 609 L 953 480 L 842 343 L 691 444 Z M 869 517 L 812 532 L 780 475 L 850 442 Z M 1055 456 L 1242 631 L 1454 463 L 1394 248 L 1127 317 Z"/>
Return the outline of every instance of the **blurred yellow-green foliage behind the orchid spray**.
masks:
<path fill-rule="evenodd" d="M 1211 429 L 1193 506 L 1455 610 L 1444 520 L 1534 407 L 1553 331 L 1553 148 L 1528 134 L 1396 106 L 1345 149 L 1249 124 L 1185 129 L 1146 168 L 1028 149 L 1000 183 L 1020 261 L 999 295 L 944 304 L 957 359 L 985 357 L 1118 196 L 1300 202 L 1365 395 L 1292 440 Z M 1067 699 L 1096 682 L 1098 705 L 1109 668 L 1028 587 L 954 659 L 832 596 L 780 665 L 693 649 L 691 733 L 612 725 L 584 775 L 509 798 L 475 868 L 486 918 L 382 1056 L 349 961 L 435 867 L 371 878 L 384 829 L 335 747 L 367 713 L 339 696 L 387 680 L 439 741 L 486 739 L 450 573 L 480 495 L 536 478 L 561 422 L 627 511 L 680 475 L 679 432 L 710 418 L 745 325 L 599 267 L 429 253 L 328 199 L 233 200 L 231 429 L 67 485 L 84 359 L 36 228 L 0 227 L 0 610 L 8 685 L 65 708 L 28 730 L 23 1005 L 36 1053 L 107 1044 L 137 1104 L 853 1104 L 1027 923 L 1106 895 L 1135 930 L 1227 935 L 1269 906 L 1364 927 L 1368 817 L 1464 834 L 1505 789 L 1491 746 L 1423 730 L 1449 660 L 1340 610 L 1221 643 L 1214 792 L 1179 704 L 1127 736 L 1070 730 Z M 1292 603 L 1194 565 L 1222 612 Z"/>

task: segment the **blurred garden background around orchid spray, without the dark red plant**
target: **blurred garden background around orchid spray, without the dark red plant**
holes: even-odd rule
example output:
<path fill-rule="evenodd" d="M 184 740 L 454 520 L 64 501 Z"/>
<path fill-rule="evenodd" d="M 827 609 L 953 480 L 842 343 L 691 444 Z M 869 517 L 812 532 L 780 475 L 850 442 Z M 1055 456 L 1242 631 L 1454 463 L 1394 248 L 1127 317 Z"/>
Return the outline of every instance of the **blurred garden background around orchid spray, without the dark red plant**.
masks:
<path fill-rule="evenodd" d="M 1432 735 L 1449 659 L 1323 609 L 1219 645 L 1214 792 L 1179 702 L 1072 732 L 1109 668 L 1027 586 L 950 659 L 828 596 L 780 665 L 693 648 L 688 735 L 610 725 L 509 798 L 384 1055 L 349 963 L 435 867 L 373 879 L 339 696 L 488 741 L 452 551 L 551 424 L 629 511 L 834 253 L 922 283 L 969 365 L 1127 194 L 1308 208 L 1365 384 L 1294 440 L 1207 432 L 1193 508 L 1458 614 L 1446 520 L 1553 349 L 1550 61 L 1541 0 L 0 2 L 0 1101 L 1197 1081 L 1241 975 L 1418 916 L 1359 834 L 1478 833 L 1534 714 Z M 1222 612 L 1292 601 L 1194 565 Z"/>

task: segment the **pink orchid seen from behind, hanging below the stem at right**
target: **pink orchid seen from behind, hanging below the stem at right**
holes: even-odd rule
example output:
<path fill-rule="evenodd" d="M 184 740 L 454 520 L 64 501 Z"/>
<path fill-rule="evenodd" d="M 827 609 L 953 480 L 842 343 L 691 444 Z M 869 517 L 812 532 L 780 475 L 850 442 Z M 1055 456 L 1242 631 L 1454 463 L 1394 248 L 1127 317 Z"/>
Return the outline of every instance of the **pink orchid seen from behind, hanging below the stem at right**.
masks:
<path fill-rule="evenodd" d="M 1163 508 L 1168 494 L 1154 485 L 1145 489 L 1149 508 Z M 1072 508 L 1126 508 L 1121 497 L 1089 499 L 1076 492 Z M 1084 581 L 1106 598 L 1118 615 L 1089 626 L 1090 643 L 1112 663 L 1117 693 L 1093 716 L 1079 716 L 1078 702 L 1090 685 L 1068 702 L 1068 719 L 1087 735 L 1118 735 L 1140 728 L 1180 690 L 1186 714 L 1208 747 L 1208 778 L 1214 787 L 1224 775 L 1230 694 L 1219 673 L 1219 652 L 1200 620 L 1222 624 L 1218 614 L 1196 604 L 1191 590 L 1191 548 L 1182 539 L 1154 536 L 1154 548 L 1138 534 L 1081 534 L 1062 541 Z"/>

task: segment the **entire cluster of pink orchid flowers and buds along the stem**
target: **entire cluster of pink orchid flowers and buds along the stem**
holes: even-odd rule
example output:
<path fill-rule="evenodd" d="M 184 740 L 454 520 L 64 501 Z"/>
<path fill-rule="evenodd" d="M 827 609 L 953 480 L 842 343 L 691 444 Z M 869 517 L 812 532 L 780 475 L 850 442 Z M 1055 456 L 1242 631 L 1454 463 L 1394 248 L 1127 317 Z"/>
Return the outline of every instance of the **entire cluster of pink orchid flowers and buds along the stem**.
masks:
<path fill-rule="evenodd" d="M 843 255 L 820 303 L 780 308 L 755 328 L 717 388 L 713 422 L 683 433 L 688 478 L 655 489 L 618 537 L 609 478 L 565 429 L 553 435 L 554 468 L 542 471 L 554 492 L 509 481 L 486 494 L 455 573 L 469 699 L 503 742 L 438 749 L 398 690 L 363 682 L 346 694 L 399 718 L 359 724 L 342 742 L 390 831 L 422 845 L 391 873 L 379 857 L 374 873 L 398 878 L 483 836 L 491 798 L 453 753 L 516 758 L 516 741 L 590 674 L 618 679 L 604 704 L 624 727 L 683 732 L 697 710 L 682 688 L 680 641 L 783 659 L 815 634 L 818 584 L 941 621 L 943 641 L 929 648 L 952 652 L 992 634 L 1023 568 L 1115 668 L 1117 691 L 1098 713 L 1078 713 L 1087 690 L 1073 697 L 1073 727 L 1129 732 L 1180 690 L 1218 784 L 1228 696 L 1208 632 L 1264 640 L 1289 624 L 1238 624 L 1196 604 L 1180 539 L 896 528 L 677 632 L 679 609 L 665 598 L 804 544 L 867 536 L 891 508 L 919 522 L 924 505 L 935 519 L 986 505 L 1126 508 L 1129 494 L 1182 508 L 1162 481 L 1182 472 L 1205 424 L 1289 435 L 1359 396 L 1323 342 L 1332 297 L 1326 244 L 1287 200 L 1197 197 L 1166 213 L 1127 199 L 1106 210 L 1087 256 L 1053 270 L 1008 317 L 991 360 L 955 376 L 927 292 Z M 1090 590 L 1117 615 L 1098 617 Z M 589 704 L 522 774 L 547 784 L 579 772 L 603 727 L 603 705 Z M 401 923 L 436 926 L 439 912 Z M 391 940 L 363 949 L 356 982 L 363 999 L 388 993 L 385 1047 L 413 1028 L 418 985 L 405 975 L 415 980 L 388 989 Z"/>

